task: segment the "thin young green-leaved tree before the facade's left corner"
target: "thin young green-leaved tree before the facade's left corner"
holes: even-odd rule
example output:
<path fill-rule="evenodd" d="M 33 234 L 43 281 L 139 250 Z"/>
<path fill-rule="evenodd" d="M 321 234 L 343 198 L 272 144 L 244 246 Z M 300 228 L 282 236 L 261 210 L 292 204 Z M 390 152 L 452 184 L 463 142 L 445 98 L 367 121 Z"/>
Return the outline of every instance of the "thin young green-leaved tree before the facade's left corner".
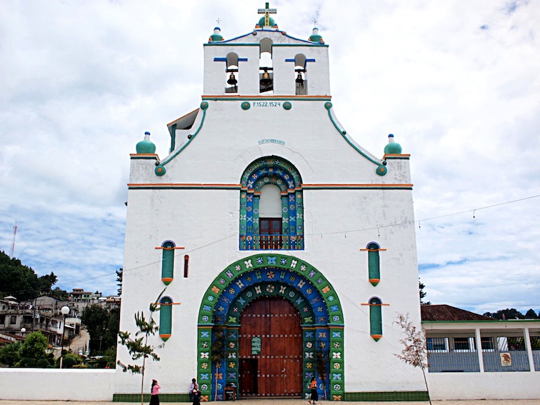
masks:
<path fill-rule="evenodd" d="M 131 338 L 130 332 L 119 331 L 120 344 L 126 346 L 131 355 L 131 359 L 136 361 L 143 359 L 142 365 L 139 364 L 123 364 L 121 361 L 117 361 L 117 364 L 121 367 L 124 373 L 126 371 L 131 371 L 132 374 L 141 374 L 141 405 L 144 401 L 144 371 L 146 370 L 146 359 L 149 357 L 153 361 L 159 361 L 159 356 L 154 352 L 155 349 L 159 349 L 164 344 L 158 346 L 153 346 L 148 344 L 148 339 L 150 335 L 156 334 L 159 331 L 159 325 L 154 321 L 154 312 L 158 311 L 159 299 L 165 292 L 165 289 L 161 291 L 155 303 L 150 304 L 150 316 L 149 320 L 146 321 L 144 313 L 139 311 L 135 314 L 135 324 L 138 331 L 136 331 L 135 338 Z"/>

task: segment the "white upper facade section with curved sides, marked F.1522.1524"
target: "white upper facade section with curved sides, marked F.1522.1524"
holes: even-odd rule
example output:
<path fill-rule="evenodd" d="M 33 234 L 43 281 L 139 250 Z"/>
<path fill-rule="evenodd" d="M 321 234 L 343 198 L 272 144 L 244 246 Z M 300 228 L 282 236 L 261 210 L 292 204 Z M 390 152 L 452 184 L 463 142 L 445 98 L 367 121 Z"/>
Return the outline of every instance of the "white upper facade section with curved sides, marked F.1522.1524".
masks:
<path fill-rule="evenodd" d="M 307 184 L 401 182 L 396 177 L 402 176 L 398 171 L 389 170 L 386 176 L 376 174 L 377 165 L 361 156 L 331 123 L 324 101 L 291 101 L 289 111 L 281 106 L 251 106 L 244 111 L 241 101 L 208 102 L 199 134 L 181 154 L 166 164 L 164 176 L 154 176 L 153 183 L 239 184 L 246 166 L 254 159 L 268 155 L 289 159 Z M 198 127 L 194 126 L 193 132 Z M 260 145 L 262 139 L 278 139 L 285 145 Z M 381 134 L 381 139 L 386 141 L 386 134 Z M 378 158 L 368 151 L 364 153 L 382 161 L 382 150 L 376 154 L 380 156 Z M 160 159 L 166 161 L 169 156 L 160 156 Z M 234 168 L 229 169 L 231 162 L 234 162 Z M 408 164 L 404 162 L 402 164 Z M 139 179 L 131 176 L 130 181 L 138 183 Z"/>

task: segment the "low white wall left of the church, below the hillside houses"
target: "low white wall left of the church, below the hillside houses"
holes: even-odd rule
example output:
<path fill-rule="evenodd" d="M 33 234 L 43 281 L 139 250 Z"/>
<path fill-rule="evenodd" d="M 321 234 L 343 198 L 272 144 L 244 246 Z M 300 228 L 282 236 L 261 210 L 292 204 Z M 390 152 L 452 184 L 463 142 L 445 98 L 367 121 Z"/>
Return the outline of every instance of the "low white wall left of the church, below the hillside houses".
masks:
<path fill-rule="evenodd" d="M 4 400 L 111 401 L 113 394 L 113 369 L 0 369 Z"/>

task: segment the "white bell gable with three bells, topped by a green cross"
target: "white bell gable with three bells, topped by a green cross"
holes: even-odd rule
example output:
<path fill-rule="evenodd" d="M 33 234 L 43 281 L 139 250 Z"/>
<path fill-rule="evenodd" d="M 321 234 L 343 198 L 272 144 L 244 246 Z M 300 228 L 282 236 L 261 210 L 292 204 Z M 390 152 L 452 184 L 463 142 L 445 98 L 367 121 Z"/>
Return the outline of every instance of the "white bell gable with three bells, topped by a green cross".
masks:
<path fill-rule="evenodd" d="M 309 39 L 279 29 L 266 3 L 249 34 L 204 44 L 205 96 L 329 96 L 328 46 L 314 28 Z"/>

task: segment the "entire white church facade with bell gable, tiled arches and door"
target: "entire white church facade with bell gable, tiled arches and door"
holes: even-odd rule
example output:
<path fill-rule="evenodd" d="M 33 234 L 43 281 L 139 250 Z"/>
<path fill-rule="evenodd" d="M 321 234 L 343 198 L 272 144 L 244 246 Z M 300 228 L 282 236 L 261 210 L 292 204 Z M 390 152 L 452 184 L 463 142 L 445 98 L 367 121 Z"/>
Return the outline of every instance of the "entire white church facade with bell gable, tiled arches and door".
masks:
<path fill-rule="evenodd" d="M 357 144 L 318 30 L 297 39 L 260 12 L 204 44 L 202 100 L 168 125 L 169 155 L 149 134 L 131 155 L 120 329 L 164 291 L 146 363 L 162 400 L 192 378 L 208 401 L 305 398 L 311 377 L 334 401 L 427 399 L 394 356 L 396 314 L 421 326 L 409 155 L 393 136 L 376 154 Z M 118 368 L 114 390 L 126 400 L 140 379 Z"/>

